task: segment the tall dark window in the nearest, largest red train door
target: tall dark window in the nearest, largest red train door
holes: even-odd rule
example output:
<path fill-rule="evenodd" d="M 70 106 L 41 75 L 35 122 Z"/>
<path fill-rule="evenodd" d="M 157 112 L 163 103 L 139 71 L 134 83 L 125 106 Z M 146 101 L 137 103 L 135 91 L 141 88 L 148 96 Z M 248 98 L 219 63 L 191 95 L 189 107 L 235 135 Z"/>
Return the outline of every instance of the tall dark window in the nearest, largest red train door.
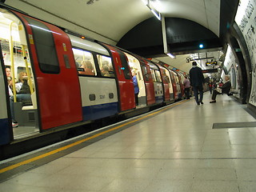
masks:
<path fill-rule="evenodd" d="M 38 54 L 38 62 L 43 73 L 58 74 L 60 71 L 53 31 L 45 24 L 26 18 L 33 31 L 34 46 Z"/>

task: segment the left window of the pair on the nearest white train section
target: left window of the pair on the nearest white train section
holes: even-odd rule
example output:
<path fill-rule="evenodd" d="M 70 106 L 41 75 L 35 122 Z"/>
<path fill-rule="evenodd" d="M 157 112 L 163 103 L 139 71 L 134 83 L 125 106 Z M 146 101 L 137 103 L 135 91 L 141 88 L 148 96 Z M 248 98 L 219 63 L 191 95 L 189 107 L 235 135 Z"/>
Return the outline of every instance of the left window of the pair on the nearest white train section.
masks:
<path fill-rule="evenodd" d="M 94 57 L 89 51 L 73 48 L 74 60 L 78 69 L 78 74 L 90 76 L 97 75 L 94 65 Z"/>

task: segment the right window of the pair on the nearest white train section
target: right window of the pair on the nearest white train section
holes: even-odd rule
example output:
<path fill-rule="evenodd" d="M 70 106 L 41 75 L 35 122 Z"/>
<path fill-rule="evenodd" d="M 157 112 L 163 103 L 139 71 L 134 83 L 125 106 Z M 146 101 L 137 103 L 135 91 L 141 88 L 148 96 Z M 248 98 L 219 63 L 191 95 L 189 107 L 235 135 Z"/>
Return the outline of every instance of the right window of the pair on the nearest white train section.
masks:
<path fill-rule="evenodd" d="M 111 58 L 97 54 L 97 59 L 98 59 L 98 66 L 101 70 L 102 76 L 114 78 L 114 69 L 111 62 Z"/>

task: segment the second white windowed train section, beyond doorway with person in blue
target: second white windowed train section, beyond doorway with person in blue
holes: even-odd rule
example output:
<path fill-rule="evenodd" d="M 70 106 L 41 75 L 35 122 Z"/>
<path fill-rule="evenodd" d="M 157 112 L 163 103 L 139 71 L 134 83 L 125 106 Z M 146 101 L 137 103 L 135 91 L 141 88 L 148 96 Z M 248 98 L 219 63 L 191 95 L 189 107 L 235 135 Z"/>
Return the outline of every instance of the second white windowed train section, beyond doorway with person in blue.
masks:
<path fill-rule="evenodd" d="M 151 76 L 154 82 L 155 102 L 160 103 L 160 102 L 163 102 L 163 95 L 164 95 L 160 70 L 158 69 L 158 66 L 154 65 L 152 62 L 149 62 L 149 65 L 150 65 Z"/>

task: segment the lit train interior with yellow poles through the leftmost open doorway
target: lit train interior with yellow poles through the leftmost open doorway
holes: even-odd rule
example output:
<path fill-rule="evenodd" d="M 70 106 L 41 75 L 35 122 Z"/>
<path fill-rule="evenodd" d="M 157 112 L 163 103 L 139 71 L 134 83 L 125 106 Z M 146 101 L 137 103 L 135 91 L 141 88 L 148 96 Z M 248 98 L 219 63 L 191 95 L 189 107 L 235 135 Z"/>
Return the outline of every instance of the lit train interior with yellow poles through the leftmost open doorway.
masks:
<path fill-rule="evenodd" d="M 9 115 L 14 114 L 14 138 L 23 138 L 37 133 L 38 110 L 35 94 L 34 74 L 31 70 L 30 56 L 27 49 L 26 35 L 22 22 L 6 10 L 0 10 L 0 41 L 2 47 L 3 69 L 9 68 L 7 83 L 13 94 Z M 23 97 L 26 94 L 28 97 Z M 12 106 L 12 103 L 14 104 Z M 13 109 L 13 110 L 12 110 Z"/>

